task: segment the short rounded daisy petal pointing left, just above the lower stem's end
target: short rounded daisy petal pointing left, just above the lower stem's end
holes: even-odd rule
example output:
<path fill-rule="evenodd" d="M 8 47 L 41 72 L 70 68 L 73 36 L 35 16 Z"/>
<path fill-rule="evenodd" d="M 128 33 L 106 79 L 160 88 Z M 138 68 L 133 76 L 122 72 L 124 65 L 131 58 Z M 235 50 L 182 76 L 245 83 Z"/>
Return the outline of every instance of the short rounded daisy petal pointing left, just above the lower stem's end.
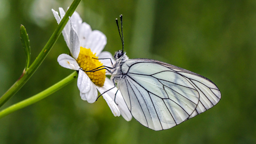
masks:
<path fill-rule="evenodd" d="M 68 54 L 60 54 L 57 60 L 62 67 L 74 70 L 78 70 L 80 68 L 76 60 Z"/>

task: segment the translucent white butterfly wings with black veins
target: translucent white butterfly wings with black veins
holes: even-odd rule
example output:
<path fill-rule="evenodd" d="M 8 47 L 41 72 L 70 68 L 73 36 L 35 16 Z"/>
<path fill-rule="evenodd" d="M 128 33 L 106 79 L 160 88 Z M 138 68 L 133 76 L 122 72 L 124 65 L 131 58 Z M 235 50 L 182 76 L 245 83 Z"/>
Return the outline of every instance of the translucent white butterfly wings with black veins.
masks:
<path fill-rule="evenodd" d="M 129 59 L 118 81 L 131 114 L 142 125 L 165 130 L 216 105 L 218 87 L 201 75 L 168 63 Z"/>

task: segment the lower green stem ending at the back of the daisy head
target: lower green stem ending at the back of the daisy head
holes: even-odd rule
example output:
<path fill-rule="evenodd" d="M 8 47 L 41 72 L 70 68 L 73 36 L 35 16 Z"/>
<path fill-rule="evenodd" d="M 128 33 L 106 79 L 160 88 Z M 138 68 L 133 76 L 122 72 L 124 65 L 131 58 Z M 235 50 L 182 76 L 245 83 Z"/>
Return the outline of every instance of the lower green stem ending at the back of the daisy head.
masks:
<path fill-rule="evenodd" d="M 42 91 L 41 93 L 38 93 L 38 94 L 34 95 L 33 97 L 30 97 L 26 100 L 15 103 L 14 105 L 12 105 L 12 106 L 10 106 L 6 109 L 3 109 L 2 111 L 0 111 L 0 118 L 4 117 L 6 115 L 9 115 L 9 114 L 13 113 L 16 110 L 27 107 L 27 106 L 32 105 L 33 103 L 35 103 L 39 100 L 42 100 L 42 99 L 46 98 L 48 95 L 54 93 L 55 91 L 58 91 L 63 86 L 69 84 L 70 82 L 72 82 L 76 78 L 77 78 L 77 72 L 74 71 L 74 73 L 70 74 L 66 78 L 62 79 L 60 82 L 54 84 L 53 86 L 51 86 L 48 89 Z"/>

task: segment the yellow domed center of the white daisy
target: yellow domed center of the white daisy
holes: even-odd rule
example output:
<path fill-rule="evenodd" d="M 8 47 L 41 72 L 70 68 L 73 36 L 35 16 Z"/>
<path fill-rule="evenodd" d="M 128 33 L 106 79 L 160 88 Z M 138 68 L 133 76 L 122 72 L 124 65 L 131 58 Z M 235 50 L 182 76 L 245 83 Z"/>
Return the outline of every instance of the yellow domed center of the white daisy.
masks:
<path fill-rule="evenodd" d="M 90 49 L 86 49 L 84 47 L 80 47 L 80 52 L 78 58 L 76 59 L 78 65 L 86 71 L 90 71 L 102 66 L 102 63 L 98 60 L 98 57 L 95 55 L 96 53 L 92 53 Z M 95 59 L 93 59 L 95 58 Z M 104 68 L 100 67 L 99 69 Z M 94 72 L 85 72 L 87 76 L 90 77 L 91 81 L 98 86 L 103 86 L 106 78 L 106 70 L 97 70 Z"/>

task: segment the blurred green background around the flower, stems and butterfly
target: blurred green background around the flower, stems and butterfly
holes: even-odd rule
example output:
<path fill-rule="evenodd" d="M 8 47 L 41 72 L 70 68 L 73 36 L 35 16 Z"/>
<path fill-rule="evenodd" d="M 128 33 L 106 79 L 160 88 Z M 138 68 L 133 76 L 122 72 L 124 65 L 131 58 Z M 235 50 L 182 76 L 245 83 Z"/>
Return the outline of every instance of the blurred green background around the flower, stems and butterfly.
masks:
<path fill-rule="evenodd" d="M 0 95 L 25 67 L 19 28 L 30 39 L 31 60 L 57 27 L 51 9 L 72 1 L 0 0 Z M 122 48 L 115 18 L 123 14 L 125 51 L 194 71 L 219 87 L 210 110 L 164 131 L 114 117 L 100 98 L 87 103 L 76 81 L 0 119 L 0 143 L 256 143 L 256 1 L 82 1 L 83 21 L 108 38 L 106 51 Z M 4 106 L 27 99 L 73 71 L 57 62 L 68 47 L 60 36 L 27 84 Z M 0 110 L 2 110 L 1 108 Z"/>

